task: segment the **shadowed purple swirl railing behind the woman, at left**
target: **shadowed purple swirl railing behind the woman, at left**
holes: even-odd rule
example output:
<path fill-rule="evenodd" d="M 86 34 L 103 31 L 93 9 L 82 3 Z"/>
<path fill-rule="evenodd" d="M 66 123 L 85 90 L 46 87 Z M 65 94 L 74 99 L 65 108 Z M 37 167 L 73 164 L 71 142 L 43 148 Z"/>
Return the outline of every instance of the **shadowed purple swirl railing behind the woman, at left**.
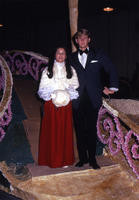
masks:
<path fill-rule="evenodd" d="M 29 51 L 5 51 L 3 57 L 13 74 L 30 74 L 36 81 L 39 80 L 39 75 L 48 64 L 48 57 Z"/>

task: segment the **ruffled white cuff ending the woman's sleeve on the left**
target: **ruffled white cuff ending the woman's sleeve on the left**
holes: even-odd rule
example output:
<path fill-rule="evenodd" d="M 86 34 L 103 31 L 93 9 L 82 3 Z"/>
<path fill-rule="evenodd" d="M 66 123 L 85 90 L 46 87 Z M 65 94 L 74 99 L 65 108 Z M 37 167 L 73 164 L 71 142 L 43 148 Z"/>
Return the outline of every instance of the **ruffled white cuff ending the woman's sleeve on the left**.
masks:
<path fill-rule="evenodd" d="M 38 90 L 38 95 L 44 101 L 49 101 L 51 99 L 51 94 L 53 93 L 52 88 L 40 88 Z"/>

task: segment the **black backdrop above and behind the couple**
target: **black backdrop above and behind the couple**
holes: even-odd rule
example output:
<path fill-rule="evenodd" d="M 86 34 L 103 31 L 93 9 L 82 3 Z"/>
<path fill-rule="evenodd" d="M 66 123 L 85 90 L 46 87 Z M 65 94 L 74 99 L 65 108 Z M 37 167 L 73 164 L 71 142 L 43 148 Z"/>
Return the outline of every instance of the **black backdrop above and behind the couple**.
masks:
<path fill-rule="evenodd" d="M 119 76 L 133 79 L 139 63 L 139 2 L 79 0 L 78 27 L 88 28 L 93 44 L 110 56 Z M 0 50 L 28 50 L 49 56 L 59 45 L 71 50 L 68 0 L 0 1 Z"/>

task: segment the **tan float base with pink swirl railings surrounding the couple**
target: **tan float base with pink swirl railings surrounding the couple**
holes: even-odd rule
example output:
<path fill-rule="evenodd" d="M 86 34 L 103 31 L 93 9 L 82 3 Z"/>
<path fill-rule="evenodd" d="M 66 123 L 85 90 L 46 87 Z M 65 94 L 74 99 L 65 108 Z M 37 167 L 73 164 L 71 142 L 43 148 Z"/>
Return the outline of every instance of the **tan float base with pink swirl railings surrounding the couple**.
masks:
<path fill-rule="evenodd" d="M 7 51 L 0 57 L 1 67 L 1 140 L 12 118 L 12 76 L 39 74 L 48 58 L 23 51 Z M 100 170 L 80 170 L 47 176 L 16 176 L 5 162 L 0 171 L 7 184 L 1 189 L 23 200 L 137 200 L 139 196 L 139 101 L 103 99 L 97 121 L 98 137 L 105 144 L 104 156 L 114 162 Z"/>

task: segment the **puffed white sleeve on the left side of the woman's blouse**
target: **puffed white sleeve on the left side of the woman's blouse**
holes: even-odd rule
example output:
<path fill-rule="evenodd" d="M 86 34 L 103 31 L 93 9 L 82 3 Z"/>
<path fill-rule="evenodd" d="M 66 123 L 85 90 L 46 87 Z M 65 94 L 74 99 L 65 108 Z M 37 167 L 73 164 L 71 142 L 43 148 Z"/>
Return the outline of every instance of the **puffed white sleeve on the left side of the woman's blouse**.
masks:
<path fill-rule="evenodd" d="M 38 95 L 44 101 L 49 101 L 51 99 L 51 94 L 53 92 L 53 87 L 50 84 L 51 79 L 47 75 L 47 68 L 43 70 Z"/>

